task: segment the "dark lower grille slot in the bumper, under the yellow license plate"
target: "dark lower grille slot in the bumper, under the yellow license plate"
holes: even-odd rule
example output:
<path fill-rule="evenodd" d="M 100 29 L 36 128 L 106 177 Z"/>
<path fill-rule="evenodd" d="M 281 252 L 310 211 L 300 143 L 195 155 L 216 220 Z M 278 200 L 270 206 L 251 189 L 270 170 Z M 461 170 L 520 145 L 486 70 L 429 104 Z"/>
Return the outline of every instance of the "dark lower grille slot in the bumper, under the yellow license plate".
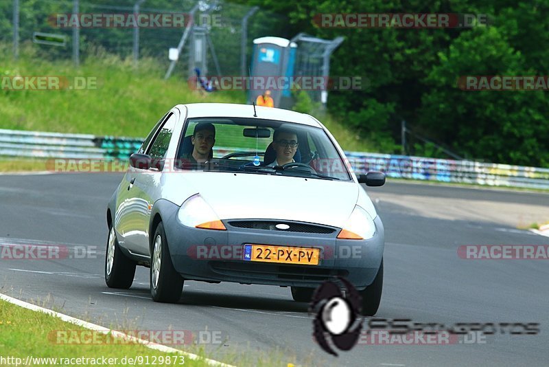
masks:
<path fill-rule="evenodd" d="M 213 271 L 229 276 L 246 276 L 263 279 L 316 280 L 323 282 L 336 276 L 346 277 L 349 271 L 342 269 L 323 269 L 299 265 L 275 265 L 253 263 L 227 263 L 211 261 Z"/>

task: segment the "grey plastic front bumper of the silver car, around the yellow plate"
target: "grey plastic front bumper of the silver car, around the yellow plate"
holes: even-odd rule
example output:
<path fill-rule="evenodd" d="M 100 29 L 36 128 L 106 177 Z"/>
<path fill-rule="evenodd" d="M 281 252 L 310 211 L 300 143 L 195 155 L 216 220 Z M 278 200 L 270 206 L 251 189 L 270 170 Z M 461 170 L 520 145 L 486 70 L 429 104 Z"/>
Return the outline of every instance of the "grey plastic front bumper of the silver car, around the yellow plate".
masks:
<path fill-rule="evenodd" d="M 384 250 L 384 228 L 379 216 L 376 233 L 364 241 L 336 239 L 333 234 L 312 234 L 231 227 L 226 231 L 186 227 L 170 215 L 164 219 L 172 263 L 188 280 L 242 284 L 318 287 L 336 276 L 347 278 L 358 290 L 373 282 Z M 288 221 L 284 221 L 288 222 Z M 318 265 L 261 263 L 243 259 L 244 245 L 319 247 Z"/>

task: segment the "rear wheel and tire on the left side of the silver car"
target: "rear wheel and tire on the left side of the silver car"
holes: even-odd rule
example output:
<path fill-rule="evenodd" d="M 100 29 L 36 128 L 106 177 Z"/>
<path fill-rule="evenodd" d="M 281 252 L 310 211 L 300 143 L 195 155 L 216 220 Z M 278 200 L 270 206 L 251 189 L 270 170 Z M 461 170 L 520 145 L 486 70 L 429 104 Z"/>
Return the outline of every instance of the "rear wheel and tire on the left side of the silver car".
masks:
<path fill-rule="evenodd" d="M 128 289 L 132 286 L 135 276 L 135 261 L 127 258 L 118 245 L 115 227 L 108 230 L 107 248 L 105 252 L 105 282 L 110 288 Z"/>

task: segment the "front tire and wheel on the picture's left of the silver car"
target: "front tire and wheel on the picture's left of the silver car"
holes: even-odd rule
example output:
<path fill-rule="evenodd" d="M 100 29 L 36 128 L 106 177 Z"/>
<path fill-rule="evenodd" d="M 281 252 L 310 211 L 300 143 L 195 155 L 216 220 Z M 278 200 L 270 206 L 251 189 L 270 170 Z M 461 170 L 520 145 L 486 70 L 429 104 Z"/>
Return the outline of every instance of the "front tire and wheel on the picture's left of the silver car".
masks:
<path fill-rule="evenodd" d="M 150 256 L 150 294 L 154 302 L 176 303 L 183 291 L 183 278 L 172 264 L 164 225 L 159 223 L 152 238 Z"/>

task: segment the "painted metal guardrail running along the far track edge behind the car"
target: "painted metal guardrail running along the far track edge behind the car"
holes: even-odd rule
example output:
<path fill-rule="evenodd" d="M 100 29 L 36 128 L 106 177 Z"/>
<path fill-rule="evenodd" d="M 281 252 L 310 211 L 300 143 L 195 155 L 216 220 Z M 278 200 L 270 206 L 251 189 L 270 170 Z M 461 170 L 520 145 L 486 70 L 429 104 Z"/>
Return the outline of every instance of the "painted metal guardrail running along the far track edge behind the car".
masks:
<path fill-rule="evenodd" d="M 0 156 L 128 159 L 143 139 L 0 129 Z M 224 151 L 215 148 L 215 151 Z M 355 173 L 379 170 L 388 177 L 549 189 L 549 168 L 467 160 L 345 152 Z"/>

